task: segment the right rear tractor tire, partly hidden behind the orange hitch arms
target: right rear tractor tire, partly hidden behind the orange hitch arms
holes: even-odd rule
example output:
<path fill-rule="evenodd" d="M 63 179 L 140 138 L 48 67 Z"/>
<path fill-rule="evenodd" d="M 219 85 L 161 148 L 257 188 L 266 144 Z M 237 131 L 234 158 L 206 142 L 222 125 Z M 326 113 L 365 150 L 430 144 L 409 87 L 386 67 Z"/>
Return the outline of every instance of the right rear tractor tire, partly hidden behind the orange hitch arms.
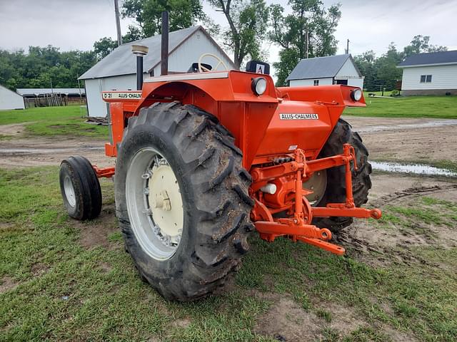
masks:
<path fill-rule="evenodd" d="M 358 170 L 352 167 L 352 191 L 356 207 L 360 207 L 368 201 L 368 190 L 371 189 L 371 165 L 368 162 L 368 150 L 363 145 L 362 138 L 357 132 L 353 132 L 351 125 L 343 119 L 339 119 L 335 128 L 323 146 L 319 158 L 330 157 L 343 153 L 343 144 L 348 143 L 354 147 Z M 346 176 L 345 167 L 332 167 L 326 170 L 326 188 L 317 206 L 325 207 L 327 203 L 341 203 L 346 200 Z M 340 232 L 351 225 L 352 217 L 319 217 L 313 219 L 313 224 L 325 227 L 331 232 Z"/>

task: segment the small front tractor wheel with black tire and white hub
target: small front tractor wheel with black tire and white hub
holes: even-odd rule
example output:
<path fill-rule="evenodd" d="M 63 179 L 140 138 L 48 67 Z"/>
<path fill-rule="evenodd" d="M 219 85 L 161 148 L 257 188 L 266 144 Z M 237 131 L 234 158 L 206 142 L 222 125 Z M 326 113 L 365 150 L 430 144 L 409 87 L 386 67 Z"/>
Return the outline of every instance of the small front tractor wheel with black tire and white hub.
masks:
<path fill-rule="evenodd" d="M 79 155 L 63 160 L 59 182 L 64 206 L 70 217 L 84 221 L 99 216 L 100 182 L 89 160 Z"/>

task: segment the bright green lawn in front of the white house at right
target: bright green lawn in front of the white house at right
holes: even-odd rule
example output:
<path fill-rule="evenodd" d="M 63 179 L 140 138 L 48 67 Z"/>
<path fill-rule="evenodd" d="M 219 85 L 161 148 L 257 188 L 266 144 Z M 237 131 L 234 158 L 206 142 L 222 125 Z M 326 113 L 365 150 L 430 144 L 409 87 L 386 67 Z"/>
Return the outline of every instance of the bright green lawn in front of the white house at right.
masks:
<path fill-rule="evenodd" d="M 390 93 L 385 92 L 384 95 Z M 457 118 L 457 96 L 368 98 L 368 93 L 364 93 L 364 96 L 366 107 L 346 108 L 344 114 L 388 118 Z"/>

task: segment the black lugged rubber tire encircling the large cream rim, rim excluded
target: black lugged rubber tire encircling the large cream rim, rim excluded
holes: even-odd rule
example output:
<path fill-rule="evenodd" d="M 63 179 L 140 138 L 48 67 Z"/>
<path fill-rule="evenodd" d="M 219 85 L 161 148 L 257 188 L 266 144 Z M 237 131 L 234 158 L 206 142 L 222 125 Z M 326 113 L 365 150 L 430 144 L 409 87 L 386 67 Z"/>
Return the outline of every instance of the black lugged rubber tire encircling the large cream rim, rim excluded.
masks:
<path fill-rule="evenodd" d="M 182 175 L 189 186 L 182 191 L 196 193 L 191 204 L 194 209 L 187 214 L 196 222 L 189 227 L 194 231 L 193 237 L 186 237 L 189 244 L 185 244 L 189 246 L 183 247 L 183 255 L 176 252 L 179 262 L 160 270 L 154 269 L 154 259 L 145 261 L 136 246 L 125 205 L 123 180 L 129 160 L 130 147 L 127 146 L 139 135 L 152 133 L 165 137 L 167 143 L 179 150 L 179 155 L 173 158 L 180 160 Z M 219 291 L 227 277 L 238 269 L 241 256 L 248 250 L 246 237 L 252 230 L 249 213 L 253 205 L 248 196 L 250 185 L 251 177 L 242 167 L 241 151 L 214 115 L 176 101 L 141 108 L 138 118 L 130 118 L 124 131 L 115 185 L 116 216 L 126 249 L 141 276 L 171 300 L 193 301 Z M 184 233 L 181 244 L 183 239 Z"/>

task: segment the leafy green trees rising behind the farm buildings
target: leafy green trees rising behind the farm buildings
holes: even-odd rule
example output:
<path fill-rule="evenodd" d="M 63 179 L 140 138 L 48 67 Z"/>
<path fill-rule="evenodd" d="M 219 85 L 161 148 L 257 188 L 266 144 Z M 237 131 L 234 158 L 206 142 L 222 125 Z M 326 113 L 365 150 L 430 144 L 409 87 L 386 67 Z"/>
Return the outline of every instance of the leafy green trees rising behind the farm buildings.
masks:
<path fill-rule="evenodd" d="M 276 69 L 276 84 L 286 85 L 286 77 L 303 58 L 331 56 L 337 51 L 334 33 L 341 19 L 340 4 L 324 6 L 321 0 L 289 0 L 267 6 L 265 0 L 205 0 L 224 14 L 225 24 L 219 25 L 205 14 L 202 0 L 126 0 L 121 15 L 134 19 L 123 43 L 161 33 L 161 12 L 169 11 L 170 31 L 202 24 L 226 50 L 233 53 L 233 62 L 240 68 L 247 59 L 268 61 L 264 46 L 280 48 Z M 368 90 L 380 85 L 393 88 L 401 70 L 396 68 L 403 58 L 423 51 L 441 51 L 432 46 L 428 36 L 416 36 L 403 51 L 391 43 L 388 51 L 376 58 L 367 51 L 354 60 L 365 77 Z M 94 43 L 93 51 L 61 52 L 54 46 L 29 47 L 9 52 L 0 50 L 0 84 L 16 88 L 74 88 L 77 77 L 117 47 L 117 41 L 104 37 Z"/>

